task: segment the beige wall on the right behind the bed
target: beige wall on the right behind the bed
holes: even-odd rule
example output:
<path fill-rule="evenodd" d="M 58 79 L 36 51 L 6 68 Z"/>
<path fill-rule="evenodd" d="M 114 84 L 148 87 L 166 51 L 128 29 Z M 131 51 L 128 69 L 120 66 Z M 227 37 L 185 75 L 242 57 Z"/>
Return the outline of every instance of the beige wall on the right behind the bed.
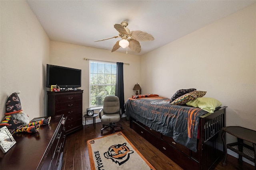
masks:
<path fill-rule="evenodd" d="M 255 4 L 144 55 L 141 64 L 144 93 L 204 90 L 228 106 L 227 126 L 256 130 Z"/>

